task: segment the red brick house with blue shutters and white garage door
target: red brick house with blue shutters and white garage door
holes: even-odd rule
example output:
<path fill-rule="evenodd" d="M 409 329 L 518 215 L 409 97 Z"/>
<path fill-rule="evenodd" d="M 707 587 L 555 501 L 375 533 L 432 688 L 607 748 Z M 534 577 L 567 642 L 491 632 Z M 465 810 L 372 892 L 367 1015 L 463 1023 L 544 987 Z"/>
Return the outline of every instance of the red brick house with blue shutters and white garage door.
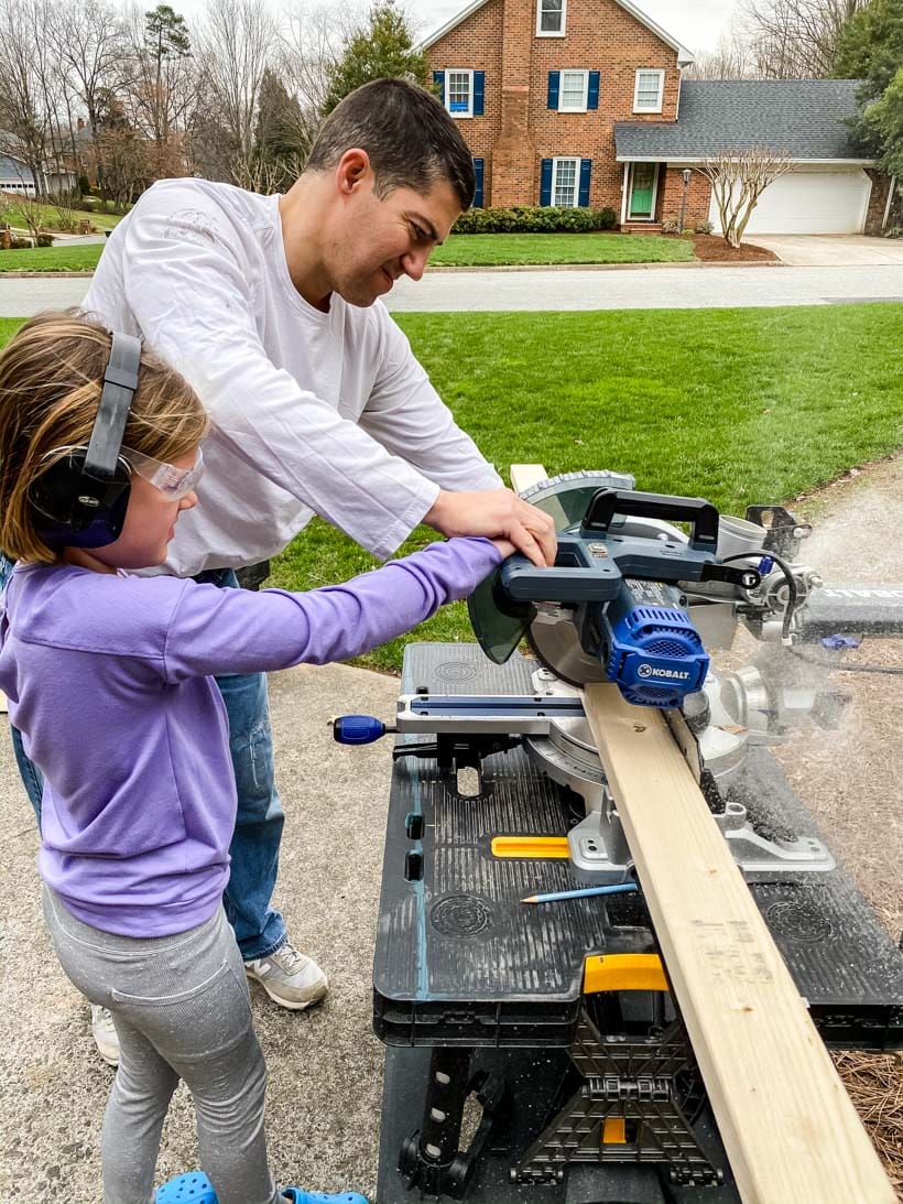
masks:
<path fill-rule="evenodd" d="M 681 81 L 692 55 L 630 0 L 474 0 L 423 43 L 473 152 L 476 205 L 610 207 L 626 229 L 718 225 L 684 171 L 766 146 L 793 169 L 748 234 L 880 232 L 890 182 L 856 158 L 856 81 Z"/>

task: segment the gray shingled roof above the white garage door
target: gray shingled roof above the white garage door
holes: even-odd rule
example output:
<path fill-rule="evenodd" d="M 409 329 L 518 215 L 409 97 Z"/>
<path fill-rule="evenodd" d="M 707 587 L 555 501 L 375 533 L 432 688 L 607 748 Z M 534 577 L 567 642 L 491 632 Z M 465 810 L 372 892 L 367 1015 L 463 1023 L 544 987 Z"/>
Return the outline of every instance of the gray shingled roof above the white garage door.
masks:
<path fill-rule="evenodd" d="M 677 122 L 615 123 L 616 155 L 701 159 L 767 147 L 791 159 L 858 160 L 845 124 L 858 88 L 858 79 L 685 79 Z"/>

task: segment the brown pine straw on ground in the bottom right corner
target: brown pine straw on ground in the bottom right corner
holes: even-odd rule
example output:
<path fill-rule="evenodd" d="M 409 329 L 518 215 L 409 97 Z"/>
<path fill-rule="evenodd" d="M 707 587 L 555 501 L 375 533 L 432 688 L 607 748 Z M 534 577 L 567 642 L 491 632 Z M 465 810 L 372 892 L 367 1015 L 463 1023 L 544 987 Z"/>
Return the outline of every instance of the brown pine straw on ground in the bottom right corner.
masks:
<path fill-rule="evenodd" d="M 903 1054 L 834 1054 L 834 1064 L 898 1196 L 903 1193 Z"/>

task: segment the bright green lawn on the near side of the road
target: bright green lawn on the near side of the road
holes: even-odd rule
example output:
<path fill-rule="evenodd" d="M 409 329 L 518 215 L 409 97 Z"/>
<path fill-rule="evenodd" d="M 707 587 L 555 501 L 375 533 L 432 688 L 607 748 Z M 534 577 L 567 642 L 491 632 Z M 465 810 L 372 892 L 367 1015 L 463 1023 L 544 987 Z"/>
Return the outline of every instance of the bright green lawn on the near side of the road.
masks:
<path fill-rule="evenodd" d="M 903 445 L 903 305 L 400 314 L 414 352 L 500 471 L 632 472 L 725 513 L 780 502 Z M 19 325 L 0 320 L 0 343 Z M 201 485 L 201 504 L 203 486 Z M 435 538 L 419 527 L 405 550 Z M 305 590 L 373 566 L 315 520 L 273 562 Z M 418 639 L 468 639 L 461 603 Z M 360 663 L 395 671 L 402 641 Z"/>

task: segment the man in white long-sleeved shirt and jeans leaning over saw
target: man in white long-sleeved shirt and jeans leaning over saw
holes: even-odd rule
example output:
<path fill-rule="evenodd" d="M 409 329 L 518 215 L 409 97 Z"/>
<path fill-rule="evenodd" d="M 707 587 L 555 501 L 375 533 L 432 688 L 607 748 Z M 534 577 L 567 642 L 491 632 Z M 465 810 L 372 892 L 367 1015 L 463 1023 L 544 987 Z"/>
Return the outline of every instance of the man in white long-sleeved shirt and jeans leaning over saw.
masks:
<path fill-rule="evenodd" d="M 113 232 L 83 308 L 142 335 L 211 413 L 201 504 L 179 523 L 166 571 L 236 584 L 321 514 L 386 557 L 418 523 L 507 536 L 535 563 L 551 521 L 501 488 L 455 425 L 378 301 L 420 279 L 470 206 L 470 150 L 427 92 L 358 89 L 324 123 L 284 196 L 164 181 Z M 262 677 L 219 681 L 238 787 L 225 908 L 247 973 L 287 1008 L 326 976 L 271 905 L 283 813 Z M 114 1033 L 95 1017 L 111 1056 Z"/>

